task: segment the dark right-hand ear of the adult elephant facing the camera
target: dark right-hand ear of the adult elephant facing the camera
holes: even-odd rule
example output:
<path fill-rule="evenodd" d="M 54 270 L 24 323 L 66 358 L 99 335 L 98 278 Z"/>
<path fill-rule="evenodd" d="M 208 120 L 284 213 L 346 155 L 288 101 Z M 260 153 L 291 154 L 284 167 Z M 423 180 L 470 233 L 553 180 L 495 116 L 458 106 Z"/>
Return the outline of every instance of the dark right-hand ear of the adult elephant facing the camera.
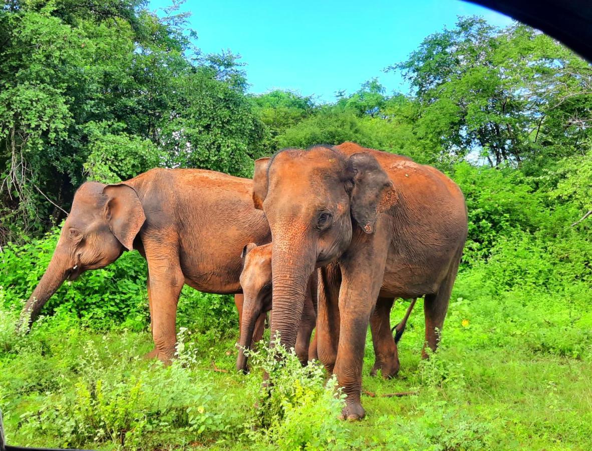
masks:
<path fill-rule="evenodd" d="M 393 191 L 392 182 L 377 159 L 368 152 L 350 156 L 348 172 L 353 181 L 350 194 L 353 219 L 366 234 L 372 234 L 384 194 Z"/>

